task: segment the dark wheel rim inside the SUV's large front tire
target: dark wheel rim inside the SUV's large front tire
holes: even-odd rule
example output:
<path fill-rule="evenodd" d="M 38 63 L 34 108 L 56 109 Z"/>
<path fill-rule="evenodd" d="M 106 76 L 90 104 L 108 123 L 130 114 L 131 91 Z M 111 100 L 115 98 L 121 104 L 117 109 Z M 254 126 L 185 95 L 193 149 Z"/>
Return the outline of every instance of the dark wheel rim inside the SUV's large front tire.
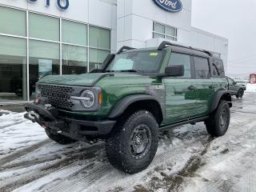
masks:
<path fill-rule="evenodd" d="M 152 135 L 149 126 L 136 126 L 130 137 L 130 154 L 135 159 L 144 158 L 150 150 L 151 138 Z"/>

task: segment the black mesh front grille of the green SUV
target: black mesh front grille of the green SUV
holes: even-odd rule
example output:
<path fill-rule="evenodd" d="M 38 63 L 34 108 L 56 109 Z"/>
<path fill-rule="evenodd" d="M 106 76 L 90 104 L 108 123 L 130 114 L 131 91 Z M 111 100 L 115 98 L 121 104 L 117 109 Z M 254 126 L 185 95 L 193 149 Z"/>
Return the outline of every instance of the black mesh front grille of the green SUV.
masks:
<path fill-rule="evenodd" d="M 38 90 L 42 97 L 48 98 L 54 107 L 71 109 L 74 106 L 74 103 L 70 101 L 70 95 L 74 89 L 70 86 L 38 84 Z"/>

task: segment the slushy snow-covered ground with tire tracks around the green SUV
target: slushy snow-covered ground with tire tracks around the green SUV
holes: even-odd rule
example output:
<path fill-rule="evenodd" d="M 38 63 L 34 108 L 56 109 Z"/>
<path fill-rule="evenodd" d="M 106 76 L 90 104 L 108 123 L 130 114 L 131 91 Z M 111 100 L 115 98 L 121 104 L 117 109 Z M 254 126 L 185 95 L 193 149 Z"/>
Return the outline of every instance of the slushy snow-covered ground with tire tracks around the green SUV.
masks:
<path fill-rule="evenodd" d="M 0 116 L 0 191 L 256 191 L 256 94 L 234 98 L 230 129 L 211 138 L 203 123 L 161 135 L 150 167 L 128 175 L 104 142 L 60 146 L 23 113 Z"/>

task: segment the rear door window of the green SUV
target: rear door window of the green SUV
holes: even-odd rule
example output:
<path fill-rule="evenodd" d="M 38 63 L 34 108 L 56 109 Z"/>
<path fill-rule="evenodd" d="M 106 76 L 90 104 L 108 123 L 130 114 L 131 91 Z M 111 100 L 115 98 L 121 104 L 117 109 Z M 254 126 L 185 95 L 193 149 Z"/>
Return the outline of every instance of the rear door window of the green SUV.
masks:
<path fill-rule="evenodd" d="M 209 62 L 207 58 L 194 57 L 195 78 L 209 78 Z"/>

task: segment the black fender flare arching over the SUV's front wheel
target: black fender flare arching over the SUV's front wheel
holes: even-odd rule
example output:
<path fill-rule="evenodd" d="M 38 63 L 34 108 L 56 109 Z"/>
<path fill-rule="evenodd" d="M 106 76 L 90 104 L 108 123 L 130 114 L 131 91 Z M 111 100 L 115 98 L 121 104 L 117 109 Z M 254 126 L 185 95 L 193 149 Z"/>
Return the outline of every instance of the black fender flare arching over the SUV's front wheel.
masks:
<path fill-rule="evenodd" d="M 134 102 L 139 102 L 139 101 L 146 101 L 146 100 L 154 100 L 158 102 L 160 108 L 160 102 L 158 101 L 158 98 L 149 95 L 149 94 L 134 94 L 127 96 L 126 98 L 122 98 L 115 106 L 114 109 L 110 111 L 110 114 L 108 115 L 108 118 L 118 118 L 130 104 Z"/>

